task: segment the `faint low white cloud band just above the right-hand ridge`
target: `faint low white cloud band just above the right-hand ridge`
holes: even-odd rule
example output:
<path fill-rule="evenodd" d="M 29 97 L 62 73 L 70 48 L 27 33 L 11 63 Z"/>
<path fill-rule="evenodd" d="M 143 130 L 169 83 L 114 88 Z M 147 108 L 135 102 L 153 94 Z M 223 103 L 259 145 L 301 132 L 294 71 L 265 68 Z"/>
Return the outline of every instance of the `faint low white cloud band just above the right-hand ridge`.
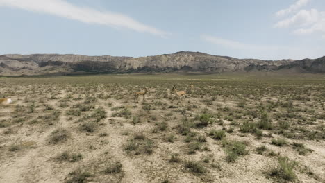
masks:
<path fill-rule="evenodd" d="M 308 49 L 296 46 L 245 44 L 211 35 L 201 35 L 201 40 L 225 49 L 234 50 L 235 53 L 240 53 L 239 55 L 235 55 L 240 58 L 253 57 L 266 60 L 292 58 L 298 60 L 303 58 L 319 58 L 324 55 L 323 49 L 319 47 Z"/>

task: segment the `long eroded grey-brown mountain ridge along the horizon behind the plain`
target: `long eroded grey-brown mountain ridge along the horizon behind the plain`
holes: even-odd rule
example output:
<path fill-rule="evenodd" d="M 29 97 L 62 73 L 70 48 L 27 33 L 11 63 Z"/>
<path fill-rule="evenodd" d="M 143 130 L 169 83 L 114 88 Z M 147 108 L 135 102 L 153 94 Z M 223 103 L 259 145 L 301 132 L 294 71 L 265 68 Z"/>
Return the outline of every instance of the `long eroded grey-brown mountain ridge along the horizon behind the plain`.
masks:
<path fill-rule="evenodd" d="M 294 72 L 325 73 L 325 57 L 315 60 L 238 59 L 181 51 L 140 58 L 84 55 L 1 55 L 0 75 L 66 75 L 151 72 Z"/>

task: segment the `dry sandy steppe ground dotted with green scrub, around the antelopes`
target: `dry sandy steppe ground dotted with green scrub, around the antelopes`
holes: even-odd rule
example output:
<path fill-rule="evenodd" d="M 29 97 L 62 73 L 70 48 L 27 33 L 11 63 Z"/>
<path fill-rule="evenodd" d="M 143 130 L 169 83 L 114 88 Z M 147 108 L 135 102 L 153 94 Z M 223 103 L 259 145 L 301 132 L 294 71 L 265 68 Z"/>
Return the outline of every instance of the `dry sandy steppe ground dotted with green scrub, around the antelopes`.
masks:
<path fill-rule="evenodd" d="M 179 104 L 173 85 L 187 92 Z M 325 182 L 324 76 L 0 78 L 0 88 L 14 101 L 0 108 L 3 183 Z"/>

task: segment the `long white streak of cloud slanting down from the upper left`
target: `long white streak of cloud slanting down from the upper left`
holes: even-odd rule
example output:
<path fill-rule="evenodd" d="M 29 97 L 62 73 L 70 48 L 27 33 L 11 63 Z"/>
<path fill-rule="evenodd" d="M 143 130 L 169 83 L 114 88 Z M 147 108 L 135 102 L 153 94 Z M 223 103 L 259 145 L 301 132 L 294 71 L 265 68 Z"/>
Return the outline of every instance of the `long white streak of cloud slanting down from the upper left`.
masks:
<path fill-rule="evenodd" d="M 150 33 L 161 37 L 169 35 L 169 33 L 165 33 L 163 30 L 142 24 L 126 15 L 76 6 L 65 0 L 0 0 L 0 6 L 10 6 L 33 12 L 47 13 L 88 24 L 130 28 L 141 33 Z"/>

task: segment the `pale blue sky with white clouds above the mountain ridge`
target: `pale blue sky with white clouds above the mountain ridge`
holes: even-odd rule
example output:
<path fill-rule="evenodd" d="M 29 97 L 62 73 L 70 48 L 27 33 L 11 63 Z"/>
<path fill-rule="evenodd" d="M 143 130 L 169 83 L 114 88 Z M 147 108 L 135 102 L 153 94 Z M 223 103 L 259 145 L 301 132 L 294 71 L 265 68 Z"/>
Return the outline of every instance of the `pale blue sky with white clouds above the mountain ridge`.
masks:
<path fill-rule="evenodd" d="M 324 0 L 0 0 L 0 55 L 325 55 Z"/>

